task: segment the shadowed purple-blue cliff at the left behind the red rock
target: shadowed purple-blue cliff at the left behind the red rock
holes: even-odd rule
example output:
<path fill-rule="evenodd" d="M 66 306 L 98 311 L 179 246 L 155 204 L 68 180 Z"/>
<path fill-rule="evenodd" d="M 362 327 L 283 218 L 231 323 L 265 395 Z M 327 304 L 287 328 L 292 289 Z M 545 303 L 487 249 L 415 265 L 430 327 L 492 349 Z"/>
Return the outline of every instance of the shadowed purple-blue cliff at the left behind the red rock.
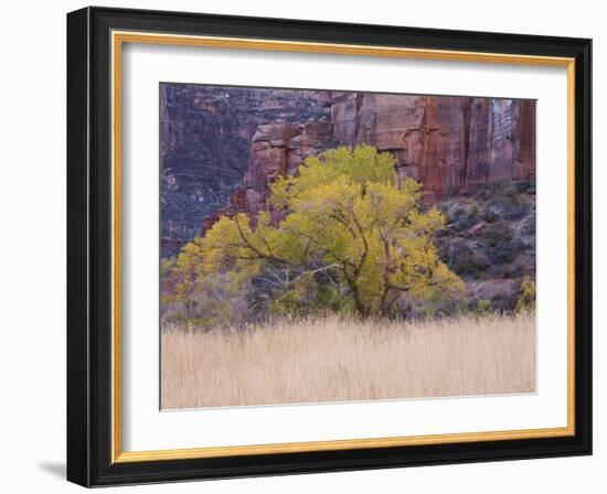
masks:
<path fill-rule="evenodd" d="M 217 208 L 242 204 L 236 187 L 260 125 L 328 118 L 329 101 L 328 92 L 161 84 L 162 257 L 179 251 Z"/>

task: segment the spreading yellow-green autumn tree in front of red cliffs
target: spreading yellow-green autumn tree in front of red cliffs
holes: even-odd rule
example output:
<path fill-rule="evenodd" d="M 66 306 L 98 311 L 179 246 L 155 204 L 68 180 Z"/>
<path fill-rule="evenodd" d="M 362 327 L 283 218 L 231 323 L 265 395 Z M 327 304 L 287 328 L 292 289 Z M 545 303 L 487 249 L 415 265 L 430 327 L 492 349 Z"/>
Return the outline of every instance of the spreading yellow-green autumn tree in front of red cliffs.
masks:
<path fill-rule="evenodd" d="M 221 217 L 182 248 L 174 297 L 216 304 L 255 292 L 255 303 L 291 315 L 391 316 L 400 300 L 458 293 L 464 284 L 433 243 L 445 219 L 420 207 L 419 189 L 373 147 L 308 158 L 270 185 L 269 211 Z"/>

